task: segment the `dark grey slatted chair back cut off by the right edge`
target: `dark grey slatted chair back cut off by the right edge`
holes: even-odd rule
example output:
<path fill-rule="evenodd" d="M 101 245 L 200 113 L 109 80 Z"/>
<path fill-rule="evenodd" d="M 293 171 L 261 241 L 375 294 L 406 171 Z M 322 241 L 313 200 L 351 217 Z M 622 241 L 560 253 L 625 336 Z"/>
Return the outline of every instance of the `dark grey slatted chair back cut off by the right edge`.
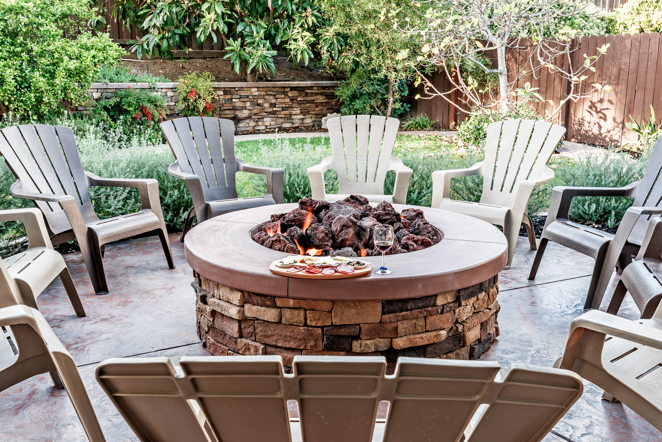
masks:
<path fill-rule="evenodd" d="M 662 202 L 662 137 L 657 139 L 655 148 L 651 154 L 651 159 L 648 161 L 643 178 L 639 181 L 636 189 L 634 190 L 635 207 L 659 207 Z M 651 218 L 659 217 L 659 215 L 641 215 L 637 220 L 628 241 L 634 244 L 641 245 L 643 238 L 646 236 L 646 229 Z"/>

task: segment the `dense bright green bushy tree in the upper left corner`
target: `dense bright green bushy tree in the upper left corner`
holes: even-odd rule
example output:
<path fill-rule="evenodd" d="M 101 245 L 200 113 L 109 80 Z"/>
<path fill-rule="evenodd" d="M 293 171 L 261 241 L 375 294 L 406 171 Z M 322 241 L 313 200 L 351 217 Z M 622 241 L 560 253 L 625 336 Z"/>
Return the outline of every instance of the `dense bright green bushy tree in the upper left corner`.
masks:
<path fill-rule="evenodd" d="M 43 117 L 87 101 L 101 66 L 124 54 L 86 32 L 91 16 L 87 0 L 0 0 L 0 109 Z"/>

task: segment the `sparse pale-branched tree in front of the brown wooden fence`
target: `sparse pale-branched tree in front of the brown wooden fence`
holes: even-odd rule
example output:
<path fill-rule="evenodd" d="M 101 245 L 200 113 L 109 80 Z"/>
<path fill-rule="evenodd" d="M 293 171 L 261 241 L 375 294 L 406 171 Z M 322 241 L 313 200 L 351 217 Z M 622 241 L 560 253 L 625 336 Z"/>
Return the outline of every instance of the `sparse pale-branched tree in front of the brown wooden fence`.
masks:
<path fill-rule="evenodd" d="M 426 88 L 442 95 L 452 103 L 449 95 L 460 91 L 473 112 L 491 112 L 498 105 L 500 112 L 508 113 L 514 106 L 513 95 L 533 97 L 532 89 L 514 90 L 518 79 L 538 77 L 542 69 L 549 69 L 569 82 L 569 93 L 546 118 L 552 118 L 568 100 L 590 97 L 610 87 L 594 83 L 589 90 L 582 82 L 589 70 L 595 71 L 598 56 L 585 56 L 573 62 L 572 40 L 579 30 L 569 24 L 582 15 L 586 5 L 574 0 L 444 0 L 421 1 L 414 5 L 416 13 L 404 20 L 394 17 L 391 26 L 410 36 L 420 36 L 418 51 L 404 49 L 399 54 L 424 77 L 424 69 L 444 69 L 453 84 L 453 90 L 441 93 L 428 82 Z M 604 54 L 608 45 L 597 48 Z M 506 50 L 527 52 L 526 67 L 510 72 L 506 66 Z M 483 62 L 487 54 L 496 52 L 496 66 Z M 469 60 L 484 73 L 498 77 L 498 87 L 483 88 L 475 78 L 454 75 Z M 558 60 L 567 60 L 565 70 L 556 66 Z M 455 105 L 455 103 L 452 103 Z M 457 105 L 456 105 L 457 106 Z M 458 107 L 459 109 L 459 107 Z M 461 110 L 461 109 L 460 109 Z"/>

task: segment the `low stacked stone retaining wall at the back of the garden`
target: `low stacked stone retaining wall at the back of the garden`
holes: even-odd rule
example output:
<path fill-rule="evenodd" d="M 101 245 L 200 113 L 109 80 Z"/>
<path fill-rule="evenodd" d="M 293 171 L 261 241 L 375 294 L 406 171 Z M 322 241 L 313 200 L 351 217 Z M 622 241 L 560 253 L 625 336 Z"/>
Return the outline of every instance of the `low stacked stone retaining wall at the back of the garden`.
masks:
<path fill-rule="evenodd" d="M 156 83 L 154 93 L 166 99 L 166 118 L 180 116 L 175 111 L 179 101 L 179 83 Z M 238 132 L 318 126 L 326 114 L 340 112 L 340 102 L 334 90 L 334 81 L 279 82 L 279 83 L 212 83 L 218 95 L 214 115 L 236 122 Z M 152 89 L 149 83 L 92 83 L 87 89 L 89 101 L 83 106 L 64 107 L 73 114 L 89 114 L 99 101 L 112 97 L 118 90 L 133 87 Z"/>

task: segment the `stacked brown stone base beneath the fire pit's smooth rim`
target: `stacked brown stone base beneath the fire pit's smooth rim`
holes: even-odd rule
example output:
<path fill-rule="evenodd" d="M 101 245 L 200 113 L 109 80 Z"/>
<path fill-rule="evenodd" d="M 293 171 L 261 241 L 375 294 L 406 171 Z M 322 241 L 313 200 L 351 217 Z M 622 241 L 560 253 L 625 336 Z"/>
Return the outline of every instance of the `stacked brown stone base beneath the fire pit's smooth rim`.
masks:
<path fill-rule="evenodd" d="M 236 290 L 205 277 L 197 294 L 197 330 L 213 355 L 295 355 L 478 359 L 499 335 L 497 277 L 472 287 L 386 301 L 323 301 Z"/>

